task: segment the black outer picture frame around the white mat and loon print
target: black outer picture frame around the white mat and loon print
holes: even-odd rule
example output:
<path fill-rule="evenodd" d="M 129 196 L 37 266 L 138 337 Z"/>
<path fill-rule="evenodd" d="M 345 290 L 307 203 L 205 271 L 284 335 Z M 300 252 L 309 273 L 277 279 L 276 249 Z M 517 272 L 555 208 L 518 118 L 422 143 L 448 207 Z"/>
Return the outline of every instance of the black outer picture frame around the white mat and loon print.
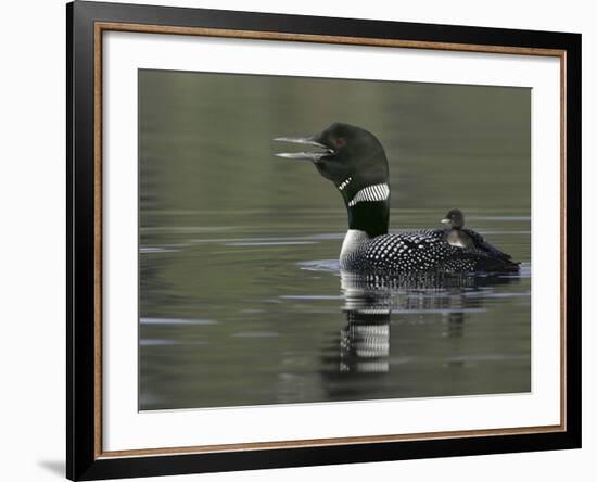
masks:
<path fill-rule="evenodd" d="M 496 436 L 363 442 L 165 455 L 98 452 L 96 390 L 97 155 L 94 28 L 98 22 L 257 33 L 556 49 L 566 58 L 566 428 Z M 66 5 L 67 417 L 66 475 L 98 480 L 581 447 L 581 35 L 75 1 Z M 94 60 L 96 59 L 96 60 Z M 101 255 L 101 253 L 100 253 Z M 98 350 L 100 351 L 98 354 Z"/>

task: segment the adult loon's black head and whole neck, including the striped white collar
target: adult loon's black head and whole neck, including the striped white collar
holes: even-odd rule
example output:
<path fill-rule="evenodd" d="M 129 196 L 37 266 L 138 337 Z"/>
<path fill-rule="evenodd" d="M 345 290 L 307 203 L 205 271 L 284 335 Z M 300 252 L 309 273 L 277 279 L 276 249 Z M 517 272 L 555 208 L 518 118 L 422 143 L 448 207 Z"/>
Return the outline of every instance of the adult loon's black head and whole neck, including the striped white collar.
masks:
<path fill-rule="evenodd" d="M 313 136 L 279 137 L 275 140 L 318 148 L 317 152 L 276 155 L 312 161 L 319 174 L 331 180 L 342 194 L 351 229 L 366 231 L 369 236 L 388 232 L 388 160 L 376 136 L 360 127 L 334 123 Z"/>

